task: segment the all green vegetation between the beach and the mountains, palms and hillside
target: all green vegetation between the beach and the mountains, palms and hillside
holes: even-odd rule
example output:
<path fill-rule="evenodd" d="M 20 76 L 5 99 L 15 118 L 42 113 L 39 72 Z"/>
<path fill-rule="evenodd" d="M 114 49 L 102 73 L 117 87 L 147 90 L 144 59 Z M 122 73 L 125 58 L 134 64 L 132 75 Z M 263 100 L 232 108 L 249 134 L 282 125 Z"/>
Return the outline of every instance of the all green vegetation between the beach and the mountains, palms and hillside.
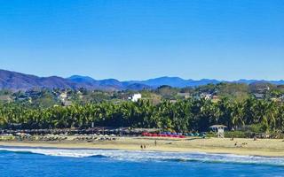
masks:
<path fill-rule="evenodd" d="M 162 86 L 138 91 L 32 89 L 0 91 L 0 128 L 159 127 L 208 131 L 223 124 L 245 132 L 283 133 L 284 87 L 267 83 L 219 83 L 197 88 Z"/>

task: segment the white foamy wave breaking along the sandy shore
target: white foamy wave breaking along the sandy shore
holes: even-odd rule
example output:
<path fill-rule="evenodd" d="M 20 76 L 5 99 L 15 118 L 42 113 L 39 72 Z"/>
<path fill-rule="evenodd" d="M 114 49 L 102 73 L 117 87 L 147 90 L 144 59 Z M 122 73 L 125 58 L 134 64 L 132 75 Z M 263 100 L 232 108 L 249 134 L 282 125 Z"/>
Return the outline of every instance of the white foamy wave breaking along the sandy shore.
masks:
<path fill-rule="evenodd" d="M 35 153 L 46 156 L 69 158 L 113 158 L 128 161 L 178 161 L 178 162 L 206 162 L 206 163 L 238 163 L 255 165 L 279 165 L 284 166 L 284 158 L 267 158 L 256 156 L 241 156 L 233 154 L 210 154 L 203 152 L 160 152 L 140 150 L 69 150 L 48 148 L 16 148 L 1 147 L 0 151 L 12 151 L 15 153 Z"/>

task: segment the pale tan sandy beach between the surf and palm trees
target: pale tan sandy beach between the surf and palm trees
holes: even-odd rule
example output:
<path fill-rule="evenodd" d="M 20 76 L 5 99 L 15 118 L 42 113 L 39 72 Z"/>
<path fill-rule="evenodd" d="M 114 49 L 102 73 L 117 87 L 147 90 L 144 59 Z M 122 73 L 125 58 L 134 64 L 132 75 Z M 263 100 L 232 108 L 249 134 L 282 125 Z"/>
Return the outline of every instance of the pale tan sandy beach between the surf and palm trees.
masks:
<path fill-rule="evenodd" d="M 237 139 L 227 138 L 149 138 L 149 137 L 119 137 L 114 141 L 73 141 L 43 142 L 43 141 L 2 141 L 0 146 L 28 146 L 67 149 L 115 149 L 115 150 L 145 150 L 177 151 L 177 152 L 208 152 L 229 153 L 238 155 L 254 155 L 266 157 L 284 157 L 284 142 L 280 139 Z M 155 145 L 154 142 L 157 142 Z"/>

